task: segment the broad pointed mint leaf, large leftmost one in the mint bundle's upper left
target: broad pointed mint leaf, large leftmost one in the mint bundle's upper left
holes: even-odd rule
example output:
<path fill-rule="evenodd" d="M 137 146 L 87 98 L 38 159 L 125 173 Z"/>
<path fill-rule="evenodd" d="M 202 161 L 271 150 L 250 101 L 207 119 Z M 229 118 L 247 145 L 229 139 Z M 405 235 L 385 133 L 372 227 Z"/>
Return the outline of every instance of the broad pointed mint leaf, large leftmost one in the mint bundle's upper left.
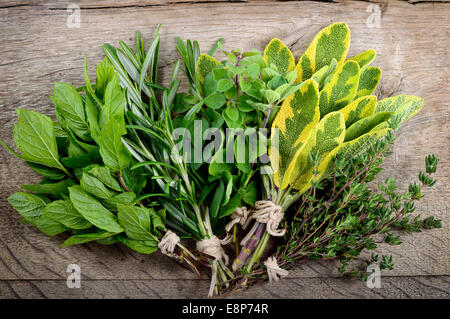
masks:
<path fill-rule="evenodd" d="M 14 124 L 14 142 L 22 152 L 23 159 L 66 171 L 58 159 L 52 120 L 34 111 L 16 111 L 19 121 Z"/>

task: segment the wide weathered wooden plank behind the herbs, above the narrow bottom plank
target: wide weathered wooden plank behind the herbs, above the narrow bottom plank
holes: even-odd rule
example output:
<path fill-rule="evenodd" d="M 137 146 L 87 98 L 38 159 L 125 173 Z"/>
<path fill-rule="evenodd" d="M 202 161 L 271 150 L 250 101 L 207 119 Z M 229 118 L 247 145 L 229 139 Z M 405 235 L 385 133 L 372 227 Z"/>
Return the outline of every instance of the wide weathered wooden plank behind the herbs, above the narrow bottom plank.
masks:
<path fill-rule="evenodd" d="M 347 22 L 352 31 L 350 55 L 369 48 L 378 52 L 375 65 L 383 70 L 378 94 L 416 94 L 426 102 L 422 112 L 400 131 L 395 153 L 386 162 L 388 169 L 383 176 L 395 176 L 405 189 L 408 181 L 423 169 L 426 154 L 440 157 L 437 187 L 426 192 L 418 212 L 439 216 L 443 228 L 407 236 L 399 247 L 383 248 L 383 252 L 394 255 L 396 263 L 394 271 L 386 276 L 450 273 L 449 207 L 442 200 L 449 193 L 449 152 L 445 147 L 450 137 L 447 4 L 413 6 L 393 1 L 384 8 L 379 26 L 368 23 L 373 13 L 366 9 L 372 4 L 358 1 L 92 8 L 82 10 L 81 28 L 71 29 L 66 24 L 68 13 L 51 10 L 45 3 L 0 8 L 0 138 L 10 145 L 15 107 L 53 114 L 46 98 L 52 92 L 53 82 L 81 85 L 82 53 L 87 54 L 93 76 L 92 66 L 103 57 L 101 44 L 117 44 L 119 39 L 133 43 L 135 30 L 144 33 L 148 44 L 155 24 L 162 23 L 160 69 L 167 79 L 169 61 L 178 58 L 174 49 L 176 36 L 198 39 L 204 50 L 220 37 L 226 39 L 227 47 L 243 49 L 263 49 L 272 37 L 279 37 L 299 56 L 321 28 L 332 21 Z M 78 263 L 86 278 L 98 280 L 193 278 L 189 271 L 159 254 L 142 256 L 123 247 L 96 244 L 60 248 L 58 244 L 64 235 L 49 238 L 21 225 L 6 201 L 20 184 L 36 181 L 37 177 L 3 149 L 0 176 L 0 279 L 60 280 L 70 263 Z M 336 276 L 337 272 L 329 263 L 308 263 L 291 275 L 324 277 Z M 192 292 L 196 287 L 186 289 Z"/>

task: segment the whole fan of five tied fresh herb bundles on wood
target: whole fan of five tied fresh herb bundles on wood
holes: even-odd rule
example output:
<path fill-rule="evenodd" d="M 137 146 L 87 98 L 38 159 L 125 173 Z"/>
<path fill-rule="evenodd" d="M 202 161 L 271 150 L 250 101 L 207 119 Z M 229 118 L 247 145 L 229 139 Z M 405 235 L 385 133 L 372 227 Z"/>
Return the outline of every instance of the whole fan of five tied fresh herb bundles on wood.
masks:
<path fill-rule="evenodd" d="M 339 259 L 346 272 L 376 248 L 376 234 L 400 244 L 396 230 L 440 227 L 433 217 L 411 217 L 422 187 L 435 183 L 436 157 L 404 193 L 392 178 L 378 189 L 370 184 L 423 100 L 377 101 L 375 51 L 346 58 L 347 25 L 320 31 L 297 62 L 279 39 L 264 52 L 228 51 L 220 39 L 208 54 L 178 39 L 181 60 L 168 85 L 158 74 L 160 38 L 158 27 L 147 51 L 139 33 L 134 50 L 123 41 L 103 45 L 95 83 L 85 62 L 83 87 L 55 84 L 56 122 L 18 110 L 20 153 L 0 143 L 43 176 L 8 199 L 25 223 L 48 235 L 72 233 L 64 246 L 120 242 L 147 254 L 176 234 L 174 252 L 161 251 L 198 275 L 198 266 L 210 267 L 209 296 L 266 279 L 273 263 L 286 270 Z M 180 71 L 188 92 L 179 91 Z M 241 236 L 238 225 L 253 219 Z M 279 240 L 269 266 L 261 257 L 271 235 Z M 233 271 L 223 249 L 231 240 Z M 392 257 L 378 258 L 368 262 L 393 267 Z"/>

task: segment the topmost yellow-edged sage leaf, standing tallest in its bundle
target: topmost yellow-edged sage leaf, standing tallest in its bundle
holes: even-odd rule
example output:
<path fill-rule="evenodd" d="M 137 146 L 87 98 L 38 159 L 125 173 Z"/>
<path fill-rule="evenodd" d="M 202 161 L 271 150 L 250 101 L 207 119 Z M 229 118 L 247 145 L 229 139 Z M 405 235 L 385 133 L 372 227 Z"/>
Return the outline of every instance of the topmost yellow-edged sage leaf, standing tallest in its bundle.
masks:
<path fill-rule="evenodd" d="M 341 65 L 350 46 L 350 30 L 345 23 L 334 23 L 321 30 L 298 61 L 297 83 L 309 79 L 333 59 Z M 325 115 L 325 114 L 324 114 Z"/>

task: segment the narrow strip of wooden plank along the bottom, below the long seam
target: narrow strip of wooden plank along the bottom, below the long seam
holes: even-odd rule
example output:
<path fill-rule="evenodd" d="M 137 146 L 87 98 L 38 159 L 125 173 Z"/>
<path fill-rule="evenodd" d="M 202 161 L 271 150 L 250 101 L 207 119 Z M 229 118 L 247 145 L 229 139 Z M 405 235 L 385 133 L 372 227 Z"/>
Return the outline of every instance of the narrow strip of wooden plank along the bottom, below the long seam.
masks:
<path fill-rule="evenodd" d="M 205 298 L 207 280 L 82 280 L 68 288 L 65 280 L 2 280 L 0 298 Z M 242 298 L 449 298 L 450 277 L 381 278 L 381 287 L 370 289 L 356 279 L 301 278 L 257 284 L 249 290 L 225 295 Z"/>

